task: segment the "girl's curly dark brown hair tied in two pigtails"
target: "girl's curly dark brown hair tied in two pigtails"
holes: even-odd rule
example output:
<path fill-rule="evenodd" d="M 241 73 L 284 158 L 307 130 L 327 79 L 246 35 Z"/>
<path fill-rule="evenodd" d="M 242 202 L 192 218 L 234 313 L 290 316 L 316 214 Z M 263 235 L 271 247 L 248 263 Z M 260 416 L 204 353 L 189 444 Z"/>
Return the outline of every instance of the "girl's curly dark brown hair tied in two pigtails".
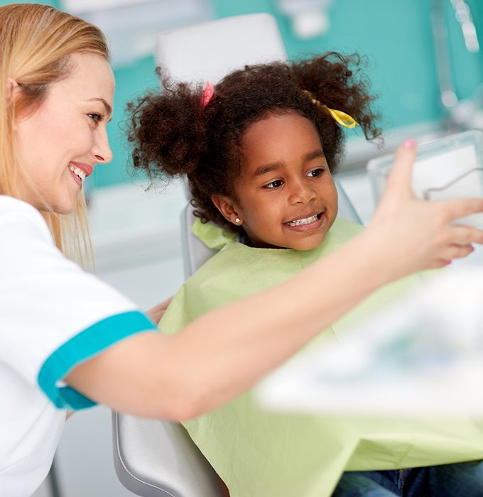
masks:
<path fill-rule="evenodd" d="M 380 136 L 375 124 L 379 116 L 371 110 L 376 97 L 369 94 L 361 66 L 359 55 L 335 52 L 301 62 L 247 65 L 215 86 L 206 107 L 201 104 L 201 84 L 192 87 L 161 75 L 162 92 L 128 105 L 134 168 L 145 170 L 151 180 L 187 175 L 195 215 L 237 232 L 241 228 L 224 219 L 211 197 L 234 197 L 243 163 L 241 138 L 251 124 L 288 111 L 309 119 L 331 173 L 344 155 L 344 132 L 305 92 L 354 117 L 367 139 Z"/>

